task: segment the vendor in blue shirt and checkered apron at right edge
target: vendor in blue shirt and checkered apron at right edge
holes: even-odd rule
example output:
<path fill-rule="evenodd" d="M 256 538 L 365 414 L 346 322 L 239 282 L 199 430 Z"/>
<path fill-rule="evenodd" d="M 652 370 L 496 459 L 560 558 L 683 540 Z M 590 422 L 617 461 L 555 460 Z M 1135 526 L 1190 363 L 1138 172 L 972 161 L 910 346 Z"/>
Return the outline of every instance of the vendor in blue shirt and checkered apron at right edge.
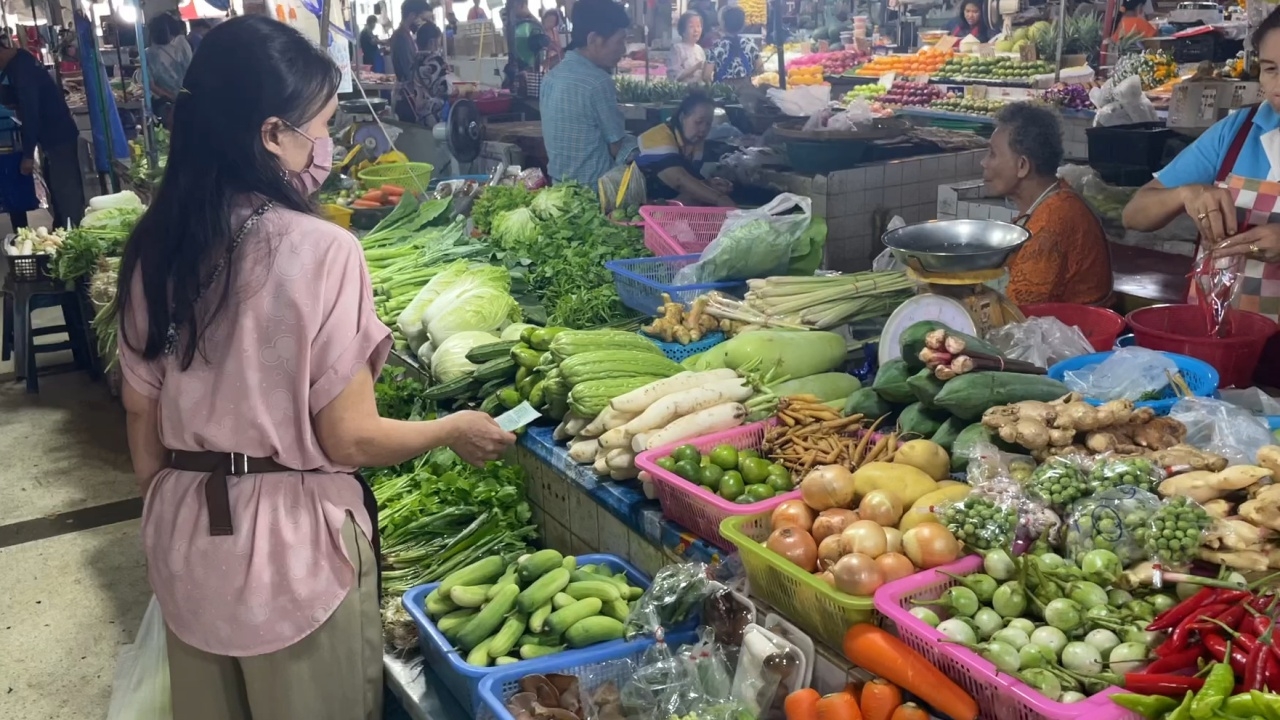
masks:
<path fill-rule="evenodd" d="M 1262 102 L 1242 108 L 1204 131 L 1124 209 L 1124 224 L 1153 231 L 1187 213 L 1202 250 L 1244 256 L 1233 301 L 1280 318 L 1280 10 L 1251 38 L 1258 54 Z M 1247 220 L 1242 227 L 1242 220 Z"/>

